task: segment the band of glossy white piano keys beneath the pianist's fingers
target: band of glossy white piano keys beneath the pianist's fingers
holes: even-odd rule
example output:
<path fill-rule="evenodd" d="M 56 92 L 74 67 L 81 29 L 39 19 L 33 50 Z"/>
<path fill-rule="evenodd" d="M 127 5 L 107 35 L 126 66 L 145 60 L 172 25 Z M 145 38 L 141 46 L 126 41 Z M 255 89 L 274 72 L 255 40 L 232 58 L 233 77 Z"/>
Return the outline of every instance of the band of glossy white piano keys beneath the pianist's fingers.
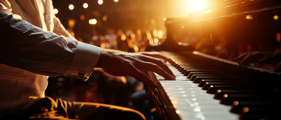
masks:
<path fill-rule="evenodd" d="M 239 119 L 239 115 L 230 112 L 230 105 L 220 104 L 220 100 L 214 99 L 214 94 L 206 93 L 198 83 L 193 83 L 186 76 L 168 65 L 176 75 L 174 80 L 160 80 L 165 92 L 169 96 L 171 103 L 179 112 L 179 117 L 185 119 Z M 161 78 L 160 75 L 156 75 Z M 183 80 L 185 79 L 185 80 Z"/>

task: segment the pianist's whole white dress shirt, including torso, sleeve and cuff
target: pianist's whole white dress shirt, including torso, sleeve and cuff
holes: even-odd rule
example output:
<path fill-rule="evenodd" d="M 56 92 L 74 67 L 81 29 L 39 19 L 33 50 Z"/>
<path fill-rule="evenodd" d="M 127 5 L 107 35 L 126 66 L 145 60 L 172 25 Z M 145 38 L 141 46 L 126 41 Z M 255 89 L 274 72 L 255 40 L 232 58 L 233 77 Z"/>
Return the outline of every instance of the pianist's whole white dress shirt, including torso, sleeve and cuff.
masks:
<path fill-rule="evenodd" d="M 52 10 L 51 0 L 0 0 L 0 116 L 44 97 L 47 76 L 86 80 L 100 58 Z"/>

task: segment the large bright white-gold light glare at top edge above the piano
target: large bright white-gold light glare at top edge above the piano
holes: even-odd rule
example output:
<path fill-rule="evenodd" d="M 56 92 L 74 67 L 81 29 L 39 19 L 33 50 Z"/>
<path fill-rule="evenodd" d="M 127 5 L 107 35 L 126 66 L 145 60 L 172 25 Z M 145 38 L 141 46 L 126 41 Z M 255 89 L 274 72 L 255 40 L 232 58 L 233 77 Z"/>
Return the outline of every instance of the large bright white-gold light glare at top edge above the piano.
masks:
<path fill-rule="evenodd" d="M 206 8 L 206 0 L 188 0 L 188 8 L 191 12 Z"/>

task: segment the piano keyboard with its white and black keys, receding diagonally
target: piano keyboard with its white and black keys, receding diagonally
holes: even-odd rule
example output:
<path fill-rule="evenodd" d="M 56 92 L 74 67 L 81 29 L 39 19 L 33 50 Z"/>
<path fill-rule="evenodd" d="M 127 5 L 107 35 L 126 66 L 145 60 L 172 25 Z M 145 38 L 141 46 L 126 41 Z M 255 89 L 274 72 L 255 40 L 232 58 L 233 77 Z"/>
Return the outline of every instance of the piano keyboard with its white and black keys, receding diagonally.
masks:
<path fill-rule="evenodd" d="M 278 74 L 203 58 L 193 53 L 186 53 L 186 56 L 164 53 L 174 59 L 167 65 L 176 79 L 165 80 L 155 73 L 157 88 L 149 89 L 148 94 L 152 95 L 157 112 L 169 112 L 160 119 L 279 117 L 279 84 L 275 84 L 281 80 Z"/>

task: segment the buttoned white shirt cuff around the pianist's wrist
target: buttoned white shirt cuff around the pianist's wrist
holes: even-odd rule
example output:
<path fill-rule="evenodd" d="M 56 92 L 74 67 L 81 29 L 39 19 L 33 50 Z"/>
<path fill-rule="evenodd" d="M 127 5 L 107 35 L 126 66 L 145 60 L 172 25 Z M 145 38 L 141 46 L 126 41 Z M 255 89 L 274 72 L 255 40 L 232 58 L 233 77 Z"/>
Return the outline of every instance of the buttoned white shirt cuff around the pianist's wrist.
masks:
<path fill-rule="evenodd" d="M 87 80 L 101 56 L 101 47 L 78 41 L 74 59 L 67 76 Z"/>

